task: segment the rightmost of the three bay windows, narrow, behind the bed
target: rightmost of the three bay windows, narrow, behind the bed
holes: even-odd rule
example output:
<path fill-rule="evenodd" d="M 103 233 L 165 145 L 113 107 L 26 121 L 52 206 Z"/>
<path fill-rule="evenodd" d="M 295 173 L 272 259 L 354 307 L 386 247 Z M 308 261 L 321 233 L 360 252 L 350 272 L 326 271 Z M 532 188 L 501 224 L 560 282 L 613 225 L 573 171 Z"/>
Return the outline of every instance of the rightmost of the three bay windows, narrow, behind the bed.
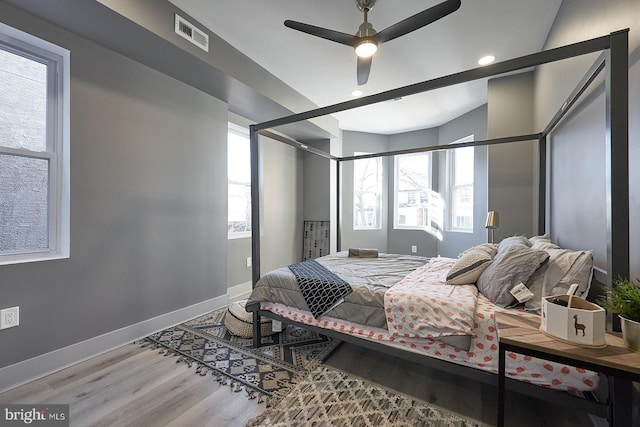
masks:
<path fill-rule="evenodd" d="M 473 135 L 453 144 L 473 141 Z M 473 232 L 473 157 L 474 148 L 448 150 L 449 230 Z"/>

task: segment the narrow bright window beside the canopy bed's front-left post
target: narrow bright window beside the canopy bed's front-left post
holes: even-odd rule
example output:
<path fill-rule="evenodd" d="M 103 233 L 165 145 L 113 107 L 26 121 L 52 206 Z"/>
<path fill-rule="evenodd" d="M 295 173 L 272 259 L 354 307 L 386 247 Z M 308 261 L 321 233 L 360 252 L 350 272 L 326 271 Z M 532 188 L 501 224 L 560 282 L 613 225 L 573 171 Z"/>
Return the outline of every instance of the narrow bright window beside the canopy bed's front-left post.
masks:
<path fill-rule="evenodd" d="M 249 130 L 229 123 L 227 133 L 229 178 L 229 238 L 251 235 L 251 149 Z"/>

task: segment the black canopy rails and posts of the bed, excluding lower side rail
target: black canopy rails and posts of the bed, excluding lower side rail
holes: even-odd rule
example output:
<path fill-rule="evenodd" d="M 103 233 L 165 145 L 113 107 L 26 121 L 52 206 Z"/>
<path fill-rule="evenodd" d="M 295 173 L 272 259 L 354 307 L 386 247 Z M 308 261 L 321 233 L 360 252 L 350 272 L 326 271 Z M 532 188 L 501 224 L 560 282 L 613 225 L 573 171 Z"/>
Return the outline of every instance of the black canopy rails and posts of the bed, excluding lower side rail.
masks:
<path fill-rule="evenodd" d="M 260 209 L 259 209 L 259 139 L 258 135 L 265 135 L 275 140 L 284 142 L 313 154 L 320 155 L 332 161 L 338 166 L 343 161 L 352 161 L 364 158 L 393 156 L 436 150 L 448 150 L 467 146 L 488 146 L 521 141 L 538 141 L 539 147 L 539 212 L 538 231 L 544 233 L 547 227 L 547 144 L 551 133 L 562 119 L 575 105 L 580 96 L 586 91 L 596 77 L 605 71 L 605 102 L 606 102 L 606 207 L 607 207 L 607 274 L 606 285 L 612 285 L 612 279 L 618 276 L 629 277 L 629 142 L 628 142 L 628 29 L 613 32 L 609 35 L 586 40 L 563 47 L 549 49 L 533 53 L 520 58 L 515 58 L 485 67 L 474 68 L 459 73 L 450 74 L 421 83 L 403 86 L 397 89 L 369 95 L 334 105 L 317 108 L 303 113 L 274 119 L 250 126 L 251 144 L 251 237 L 252 237 L 252 283 L 260 279 Z M 563 59 L 569 59 L 589 53 L 602 52 L 595 63 L 587 71 L 585 76 L 571 92 L 560 109 L 553 115 L 549 124 L 540 133 L 516 135 L 505 138 L 489 139 L 484 141 L 465 142 L 452 145 L 426 146 L 408 150 L 395 150 L 383 153 L 366 154 L 359 156 L 332 156 L 324 151 L 317 150 L 308 145 L 293 141 L 279 134 L 269 132 L 278 126 L 283 126 L 299 121 L 310 120 L 327 114 L 338 113 L 353 108 L 363 107 L 397 97 L 414 95 L 446 86 L 465 83 L 472 80 L 488 78 L 492 76 L 513 73 L 519 70 L 551 63 Z M 340 198 L 340 167 L 336 168 L 338 199 Z M 613 191 L 615 189 L 615 191 Z M 338 209 L 338 247 L 340 235 L 340 201 L 337 201 Z M 615 219 L 615 220 L 614 220 Z M 260 344 L 259 316 L 254 312 L 254 346 Z M 616 328 L 614 323 L 614 329 Z"/>

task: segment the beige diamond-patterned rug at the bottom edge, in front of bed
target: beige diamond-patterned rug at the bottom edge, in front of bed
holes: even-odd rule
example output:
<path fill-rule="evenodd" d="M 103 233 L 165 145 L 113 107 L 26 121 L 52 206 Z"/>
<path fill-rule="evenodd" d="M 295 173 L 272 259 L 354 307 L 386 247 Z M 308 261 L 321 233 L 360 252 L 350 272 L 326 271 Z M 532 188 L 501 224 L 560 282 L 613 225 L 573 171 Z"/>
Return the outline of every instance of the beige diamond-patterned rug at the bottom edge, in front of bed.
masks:
<path fill-rule="evenodd" d="M 318 366 L 251 426 L 481 426 L 429 404 Z"/>

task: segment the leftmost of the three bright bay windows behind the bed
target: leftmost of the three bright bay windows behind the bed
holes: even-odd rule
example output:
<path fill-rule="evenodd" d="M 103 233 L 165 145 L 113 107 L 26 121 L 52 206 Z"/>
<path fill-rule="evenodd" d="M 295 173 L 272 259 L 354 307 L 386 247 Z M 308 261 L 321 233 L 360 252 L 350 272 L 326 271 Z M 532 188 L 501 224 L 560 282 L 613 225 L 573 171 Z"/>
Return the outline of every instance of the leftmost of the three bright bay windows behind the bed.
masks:
<path fill-rule="evenodd" d="M 354 153 L 356 156 L 369 153 Z M 382 159 L 353 161 L 353 229 L 382 228 Z"/>

